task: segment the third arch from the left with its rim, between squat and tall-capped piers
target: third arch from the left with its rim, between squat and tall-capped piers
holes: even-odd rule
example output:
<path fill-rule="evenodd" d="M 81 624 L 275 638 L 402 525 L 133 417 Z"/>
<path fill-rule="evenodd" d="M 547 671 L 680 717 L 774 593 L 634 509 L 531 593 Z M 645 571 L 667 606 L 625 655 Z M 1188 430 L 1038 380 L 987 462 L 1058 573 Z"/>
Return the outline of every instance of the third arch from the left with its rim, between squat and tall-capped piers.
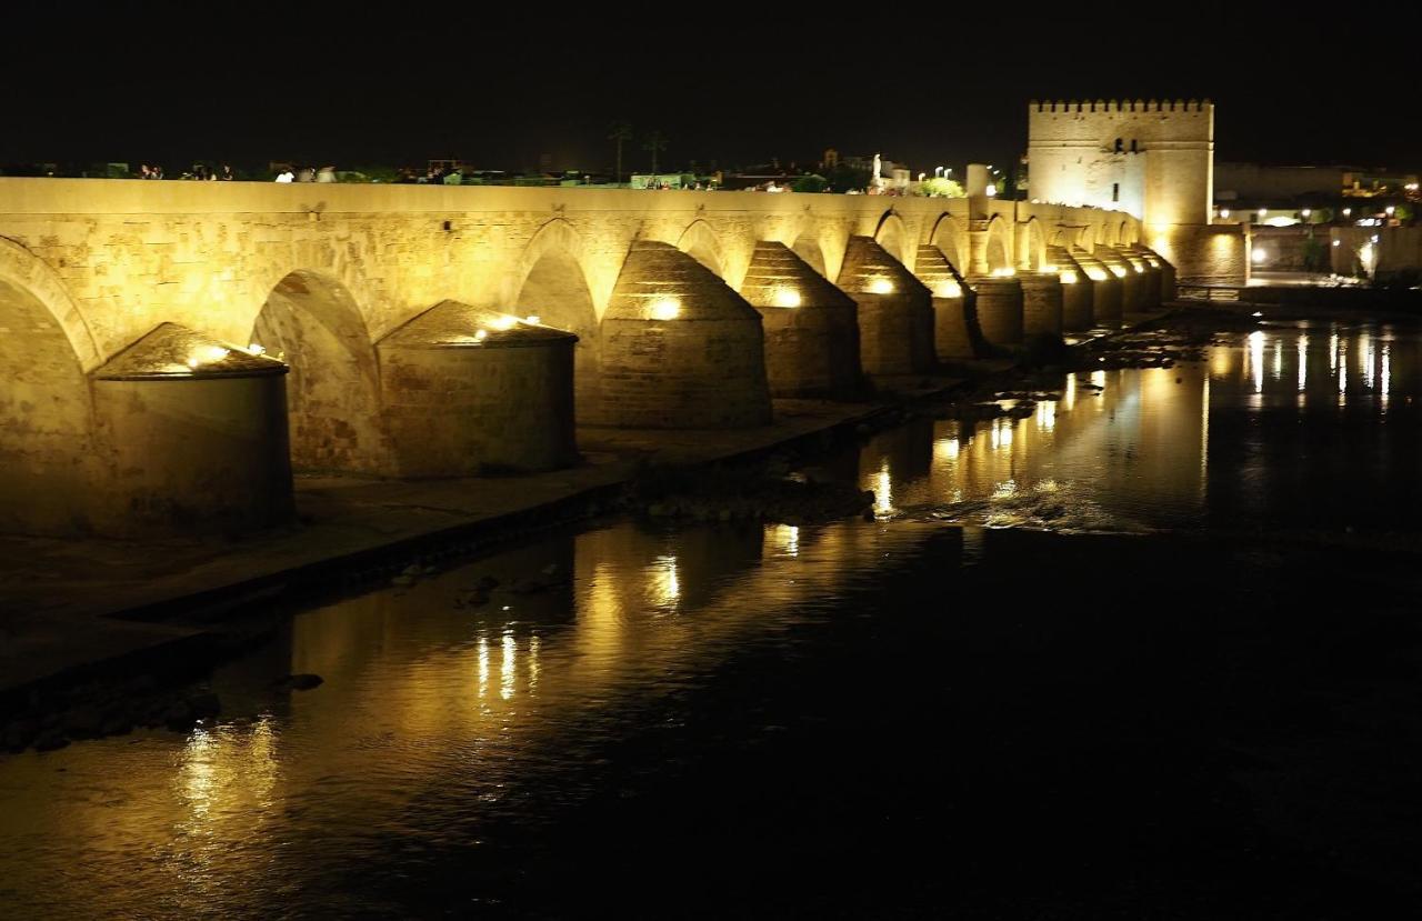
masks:
<path fill-rule="evenodd" d="M 579 419 L 597 416 L 600 335 L 597 308 L 583 269 L 583 239 L 557 217 L 529 240 L 518 263 L 518 284 L 509 297 L 510 313 L 538 317 L 543 325 L 577 335 L 573 350 L 573 394 Z"/>

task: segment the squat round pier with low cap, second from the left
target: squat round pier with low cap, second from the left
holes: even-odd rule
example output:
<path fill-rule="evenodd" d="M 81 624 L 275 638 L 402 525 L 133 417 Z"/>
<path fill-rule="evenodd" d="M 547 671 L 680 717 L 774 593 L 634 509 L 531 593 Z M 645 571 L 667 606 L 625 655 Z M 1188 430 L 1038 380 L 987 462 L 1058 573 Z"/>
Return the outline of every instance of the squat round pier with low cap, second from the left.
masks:
<path fill-rule="evenodd" d="M 377 345 L 381 402 L 404 478 L 552 470 L 577 459 L 577 337 L 442 301 Z"/>

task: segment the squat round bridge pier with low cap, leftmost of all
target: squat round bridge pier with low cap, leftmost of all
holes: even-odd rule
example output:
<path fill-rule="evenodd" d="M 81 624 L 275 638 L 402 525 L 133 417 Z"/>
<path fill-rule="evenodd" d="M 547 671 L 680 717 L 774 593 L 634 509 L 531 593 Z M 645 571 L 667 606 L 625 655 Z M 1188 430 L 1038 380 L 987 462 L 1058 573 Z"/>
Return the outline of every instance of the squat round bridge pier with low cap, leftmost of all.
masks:
<path fill-rule="evenodd" d="M 172 323 L 91 375 L 109 468 L 95 529 L 242 533 L 292 520 L 286 365 Z"/>

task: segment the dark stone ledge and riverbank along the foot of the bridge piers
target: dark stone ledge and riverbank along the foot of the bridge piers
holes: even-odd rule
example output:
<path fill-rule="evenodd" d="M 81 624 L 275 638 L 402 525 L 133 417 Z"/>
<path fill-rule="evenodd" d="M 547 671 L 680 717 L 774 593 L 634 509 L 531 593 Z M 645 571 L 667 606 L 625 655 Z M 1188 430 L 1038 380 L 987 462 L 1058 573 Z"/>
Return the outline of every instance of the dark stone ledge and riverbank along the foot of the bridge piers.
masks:
<path fill-rule="evenodd" d="M 1132 316 L 1121 331 L 1084 337 L 1048 357 L 1054 372 L 1059 374 L 1057 361 L 1081 357 L 1092 343 L 1129 340 L 1133 330 L 1167 313 Z M 1112 357 L 1112 362 L 1153 360 L 1159 357 L 1130 348 Z M 1022 364 L 1044 361 L 1027 354 Z M 299 524 L 247 539 L 0 537 L 0 715 L 92 682 L 189 678 L 270 630 L 303 598 L 388 584 L 410 567 L 438 566 L 539 529 L 624 509 L 630 485 L 661 483 L 667 470 L 684 478 L 688 470 L 778 452 L 822 451 L 892 425 L 916 404 L 957 394 L 961 405 L 948 404 L 947 411 L 963 412 L 994 387 L 1021 387 L 1030 377 L 1007 360 L 975 361 L 936 375 L 879 381 L 873 401 L 776 401 L 775 422 L 754 429 L 584 428 L 580 466 L 530 476 L 424 482 L 299 476 Z M 675 496 L 633 502 L 653 515 L 741 513 L 725 503 Z M 825 507 L 852 513 L 843 496 Z"/>

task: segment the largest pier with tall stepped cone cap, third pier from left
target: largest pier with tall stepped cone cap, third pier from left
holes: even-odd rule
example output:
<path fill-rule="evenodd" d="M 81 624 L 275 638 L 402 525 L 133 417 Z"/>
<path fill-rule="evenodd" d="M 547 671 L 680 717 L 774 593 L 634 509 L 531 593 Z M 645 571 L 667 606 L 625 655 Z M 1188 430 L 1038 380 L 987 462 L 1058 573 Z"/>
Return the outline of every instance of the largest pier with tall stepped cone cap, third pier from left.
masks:
<path fill-rule="evenodd" d="M 677 247 L 631 244 L 602 333 L 610 425 L 747 428 L 771 421 L 761 314 Z"/>

